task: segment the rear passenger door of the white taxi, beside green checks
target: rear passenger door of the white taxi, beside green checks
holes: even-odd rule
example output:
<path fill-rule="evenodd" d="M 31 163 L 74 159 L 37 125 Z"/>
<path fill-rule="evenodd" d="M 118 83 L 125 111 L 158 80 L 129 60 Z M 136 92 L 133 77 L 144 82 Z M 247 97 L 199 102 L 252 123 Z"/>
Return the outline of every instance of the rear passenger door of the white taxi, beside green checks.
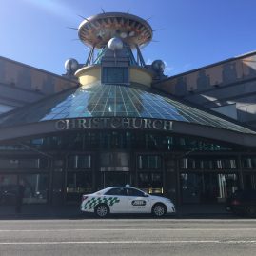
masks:
<path fill-rule="evenodd" d="M 127 190 L 124 187 L 110 188 L 105 196 L 107 198 L 110 213 L 128 212 Z"/>

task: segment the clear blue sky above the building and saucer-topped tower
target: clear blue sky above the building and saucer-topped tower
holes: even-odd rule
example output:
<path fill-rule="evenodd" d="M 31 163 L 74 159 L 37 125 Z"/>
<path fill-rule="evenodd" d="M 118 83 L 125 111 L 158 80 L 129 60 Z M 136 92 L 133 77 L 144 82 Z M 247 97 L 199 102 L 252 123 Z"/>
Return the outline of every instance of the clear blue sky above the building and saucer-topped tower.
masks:
<path fill-rule="evenodd" d="M 256 49 L 255 0 L 0 0 L 0 55 L 62 74 L 73 57 L 89 53 L 76 30 L 101 11 L 149 19 L 155 31 L 146 62 L 162 59 L 173 75 Z"/>

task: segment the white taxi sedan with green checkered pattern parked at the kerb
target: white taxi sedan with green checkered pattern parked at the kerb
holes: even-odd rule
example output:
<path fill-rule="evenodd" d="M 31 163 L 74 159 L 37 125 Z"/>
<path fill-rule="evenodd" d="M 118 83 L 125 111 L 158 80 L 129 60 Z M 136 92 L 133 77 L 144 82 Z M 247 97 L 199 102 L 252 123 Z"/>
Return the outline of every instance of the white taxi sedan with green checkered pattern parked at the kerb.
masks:
<path fill-rule="evenodd" d="M 162 217 L 174 213 L 171 200 L 153 196 L 135 187 L 107 187 L 93 194 L 83 195 L 81 210 L 94 212 L 98 217 L 109 213 L 152 213 Z"/>

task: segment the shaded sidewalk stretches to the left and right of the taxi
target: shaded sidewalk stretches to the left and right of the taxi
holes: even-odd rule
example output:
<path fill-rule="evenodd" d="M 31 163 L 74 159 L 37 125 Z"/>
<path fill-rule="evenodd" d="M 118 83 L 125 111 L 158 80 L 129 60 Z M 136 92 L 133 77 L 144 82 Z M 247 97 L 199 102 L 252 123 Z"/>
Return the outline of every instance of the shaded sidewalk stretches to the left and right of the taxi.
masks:
<path fill-rule="evenodd" d="M 185 205 L 177 207 L 177 218 L 228 218 L 223 205 Z M 15 213 L 15 206 L 0 206 L 0 219 L 56 219 L 82 218 L 79 205 L 50 207 L 46 205 L 24 205 L 21 213 Z"/>

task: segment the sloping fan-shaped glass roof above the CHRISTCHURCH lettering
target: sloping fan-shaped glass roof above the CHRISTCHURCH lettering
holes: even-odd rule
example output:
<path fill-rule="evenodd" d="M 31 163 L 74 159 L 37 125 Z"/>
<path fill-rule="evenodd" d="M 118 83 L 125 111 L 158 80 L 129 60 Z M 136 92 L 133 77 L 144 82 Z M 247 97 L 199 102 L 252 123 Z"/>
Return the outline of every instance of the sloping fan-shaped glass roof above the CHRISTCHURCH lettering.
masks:
<path fill-rule="evenodd" d="M 70 89 L 43 101 L 0 116 L 0 126 L 83 117 L 157 118 L 226 128 L 233 131 L 254 131 L 226 121 L 203 110 L 192 108 L 159 94 L 120 85 L 95 84 Z"/>

